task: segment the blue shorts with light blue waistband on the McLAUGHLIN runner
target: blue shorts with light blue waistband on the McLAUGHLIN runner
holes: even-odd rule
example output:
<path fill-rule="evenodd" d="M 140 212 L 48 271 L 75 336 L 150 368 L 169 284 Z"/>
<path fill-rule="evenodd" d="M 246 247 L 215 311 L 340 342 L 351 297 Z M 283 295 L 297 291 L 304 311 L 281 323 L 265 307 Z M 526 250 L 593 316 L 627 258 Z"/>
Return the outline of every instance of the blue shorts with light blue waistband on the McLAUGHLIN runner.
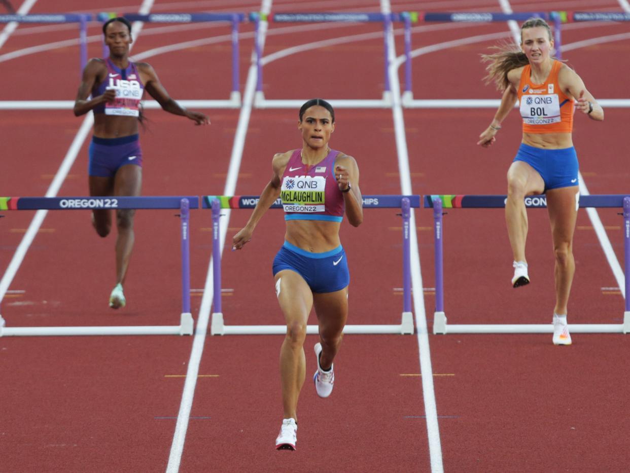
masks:
<path fill-rule="evenodd" d="M 341 245 L 325 253 L 309 253 L 284 242 L 273 259 L 273 275 L 282 270 L 295 271 L 312 292 L 336 292 L 350 284 L 348 258 Z"/>

